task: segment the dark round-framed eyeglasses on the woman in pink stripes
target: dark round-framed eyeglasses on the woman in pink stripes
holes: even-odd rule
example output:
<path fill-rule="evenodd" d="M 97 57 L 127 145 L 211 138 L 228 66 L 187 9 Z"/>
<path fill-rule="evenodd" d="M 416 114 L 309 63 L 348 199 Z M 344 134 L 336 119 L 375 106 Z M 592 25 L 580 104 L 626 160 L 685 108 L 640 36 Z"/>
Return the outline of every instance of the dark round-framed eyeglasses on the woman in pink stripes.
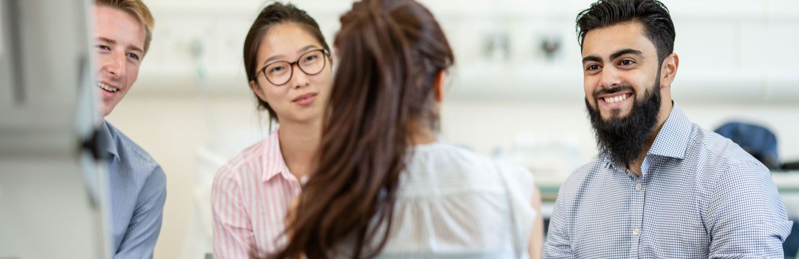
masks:
<path fill-rule="evenodd" d="M 264 65 L 258 72 L 264 73 L 264 77 L 266 77 L 269 83 L 279 86 L 292 80 L 295 64 L 302 70 L 302 73 L 308 76 L 321 73 L 324 66 L 328 63 L 328 59 L 325 58 L 326 56 L 330 56 L 327 49 L 314 49 L 302 54 L 297 61 L 275 61 Z M 257 76 L 258 74 L 256 73 L 256 77 Z"/>

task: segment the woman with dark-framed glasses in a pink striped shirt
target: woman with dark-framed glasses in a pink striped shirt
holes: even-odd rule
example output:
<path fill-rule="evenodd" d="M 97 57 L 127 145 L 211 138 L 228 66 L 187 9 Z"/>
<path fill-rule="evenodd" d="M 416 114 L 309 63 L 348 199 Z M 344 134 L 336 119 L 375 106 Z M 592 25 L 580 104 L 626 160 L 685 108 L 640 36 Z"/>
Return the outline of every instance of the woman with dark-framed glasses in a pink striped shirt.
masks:
<path fill-rule="evenodd" d="M 213 180 L 213 257 L 272 253 L 288 203 L 316 168 L 332 58 L 319 26 L 303 10 L 279 2 L 258 14 L 244 39 L 244 69 L 258 108 L 279 124 L 241 151 Z"/>

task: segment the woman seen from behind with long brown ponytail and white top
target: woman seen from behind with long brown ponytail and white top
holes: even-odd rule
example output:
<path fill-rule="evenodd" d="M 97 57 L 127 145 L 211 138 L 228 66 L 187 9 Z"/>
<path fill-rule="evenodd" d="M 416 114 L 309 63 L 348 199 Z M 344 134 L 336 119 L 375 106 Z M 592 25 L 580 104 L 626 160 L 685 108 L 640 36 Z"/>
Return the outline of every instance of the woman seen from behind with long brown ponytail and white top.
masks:
<path fill-rule="evenodd" d="M 455 58 L 430 11 L 362 0 L 340 21 L 318 167 L 272 257 L 539 257 L 531 173 L 436 139 Z"/>

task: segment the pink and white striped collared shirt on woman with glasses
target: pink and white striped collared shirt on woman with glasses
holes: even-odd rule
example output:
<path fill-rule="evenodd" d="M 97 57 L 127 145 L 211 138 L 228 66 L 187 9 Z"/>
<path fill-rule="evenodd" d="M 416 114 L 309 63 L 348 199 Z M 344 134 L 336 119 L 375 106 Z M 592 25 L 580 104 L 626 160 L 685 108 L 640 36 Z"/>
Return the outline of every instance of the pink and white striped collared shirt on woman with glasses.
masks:
<path fill-rule="evenodd" d="M 277 131 L 231 159 L 213 179 L 213 258 L 248 258 L 286 244 L 288 203 L 300 181 L 288 171 Z"/>

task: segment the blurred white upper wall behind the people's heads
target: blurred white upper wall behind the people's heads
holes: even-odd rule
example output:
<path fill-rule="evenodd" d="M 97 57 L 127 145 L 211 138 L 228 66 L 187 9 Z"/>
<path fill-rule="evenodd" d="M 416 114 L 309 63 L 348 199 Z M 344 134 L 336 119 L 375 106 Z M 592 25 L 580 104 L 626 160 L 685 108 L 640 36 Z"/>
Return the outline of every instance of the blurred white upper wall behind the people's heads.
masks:
<path fill-rule="evenodd" d="M 339 28 L 338 18 L 351 0 L 292 1 L 320 23 L 328 41 Z M 580 84 L 580 53 L 574 17 L 591 0 L 435 0 L 427 4 L 455 50 L 455 75 L 463 97 L 507 100 L 570 100 L 578 91 L 562 85 Z M 681 57 L 677 83 L 690 89 L 683 100 L 750 104 L 799 101 L 799 35 L 795 1 L 671 0 Z M 190 4 L 189 4 L 190 3 Z M 265 1 L 153 1 L 157 18 L 153 46 L 142 67 L 142 90 L 184 91 L 193 87 L 197 69 L 204 69 L 209 88 L 228 92 L 228 82 L 244 80 L 240 55 L 244 35 Z M 489 42 L 507 38 L 507 56 L 491 51 Z M 547 58 L 544 39 L 560 42 Z M 198 47 L 198 48 L 195 48 Z M 196 51 L 199 49 L 199 51 Z M 499 53 L 492 55 L 490 53 Z M 335 54 L 335 53 L 334 53 Z M 531 73 L 533 72 L 533 73 Z M 169 82 L 172 88 L 159 84 Z M 510 91 L 493 91 L 485 84 L 502 84 Z"/>

